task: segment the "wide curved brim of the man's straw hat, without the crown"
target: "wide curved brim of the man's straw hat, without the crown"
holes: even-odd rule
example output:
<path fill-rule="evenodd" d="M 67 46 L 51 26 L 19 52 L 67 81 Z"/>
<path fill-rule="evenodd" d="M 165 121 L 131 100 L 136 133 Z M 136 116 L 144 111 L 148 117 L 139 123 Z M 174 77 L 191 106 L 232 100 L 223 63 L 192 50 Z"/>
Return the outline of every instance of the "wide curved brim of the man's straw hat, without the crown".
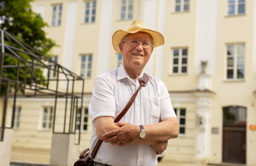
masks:
<path fill-rule="evenodd" d="M 151 37 L 154 41 L 153 48 L 156 48 L 156 47 L 164 44 L 163 34 L 157 32 L 157 31 L 151 30 L 151 29 L 140 29 L 140 30 L 137 30 L 134 32 L 127 32 L 125 30 L 117 30 L 117 31 L 115 31 L 115 33 L 112 36 L 112 44 L 113 44 L 114 49 L 120 53 L 119 44 L 122 41 L 122 39 L 124 39 L 124 37 L 127 34 L 136 34 L 138 32 L 144 32 L 144 33 L 151 35 Z"/>

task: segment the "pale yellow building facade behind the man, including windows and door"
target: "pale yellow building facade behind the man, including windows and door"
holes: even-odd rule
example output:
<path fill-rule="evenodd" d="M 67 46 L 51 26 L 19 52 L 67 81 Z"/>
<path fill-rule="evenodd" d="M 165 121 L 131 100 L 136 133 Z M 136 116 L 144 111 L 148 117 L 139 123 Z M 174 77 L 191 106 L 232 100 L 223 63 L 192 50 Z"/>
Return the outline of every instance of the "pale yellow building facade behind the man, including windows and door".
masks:
<path fill-rule="evenodd" d="M 88 104 L 94 80 L 122 60 L 112 47 L 112 34 L 140 19 L 165 38 L 145 71 L 166 84 L 180 125 L 163 159 L 256 165 L 255 1 L 35 0 L 31 9 L 49 24 L 47 37 L 59 45 L 52 49 L 53 60 L 85 79 L 80 152 L 92 134 Z M 58 101 L 57 112 L 64 105 Z M 12 161 L 50 162 L 53 106 L 51 98 L 17 99 Z M 23 158 L 16 154 L 23 150 L 44 153 L 38 154 L 40 161 L 29 160 L 25 153 Z"/>

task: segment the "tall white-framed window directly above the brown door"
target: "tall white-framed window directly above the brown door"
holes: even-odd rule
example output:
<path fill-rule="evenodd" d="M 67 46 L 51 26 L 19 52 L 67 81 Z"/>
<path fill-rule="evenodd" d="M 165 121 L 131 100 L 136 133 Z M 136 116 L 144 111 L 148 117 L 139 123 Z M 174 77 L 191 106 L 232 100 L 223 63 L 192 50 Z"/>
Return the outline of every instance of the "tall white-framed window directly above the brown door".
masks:
<path fill-rule="evenodd" d="M 227 79 L 244 79 L 244 44 L 227 45 Z"/>

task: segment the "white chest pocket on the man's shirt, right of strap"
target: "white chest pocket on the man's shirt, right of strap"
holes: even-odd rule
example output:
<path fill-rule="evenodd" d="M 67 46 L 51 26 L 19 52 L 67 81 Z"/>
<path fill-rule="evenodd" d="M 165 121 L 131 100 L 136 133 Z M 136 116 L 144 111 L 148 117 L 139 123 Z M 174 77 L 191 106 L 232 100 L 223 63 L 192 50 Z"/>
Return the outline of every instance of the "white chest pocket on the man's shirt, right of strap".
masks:
<path fill-rule="evenodd" d="M 160 99 L 159 98 L 147 98 L 147 112 L 149 117 L 159 121 L 160 118 Z"/>

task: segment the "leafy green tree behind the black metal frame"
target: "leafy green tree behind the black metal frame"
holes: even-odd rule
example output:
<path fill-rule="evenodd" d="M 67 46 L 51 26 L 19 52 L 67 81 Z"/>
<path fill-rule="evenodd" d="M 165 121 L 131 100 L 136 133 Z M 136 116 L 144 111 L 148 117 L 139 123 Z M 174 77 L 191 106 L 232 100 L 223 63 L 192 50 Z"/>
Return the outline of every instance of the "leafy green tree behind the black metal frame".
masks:
<path fill-rule="evenodd" d="M 40 14 L 33 13 L 31 11 L 29 3 L 33 0 L 0 0 L 0 3 L 4 8 L 0 10 L 0 16 L 2 17 L 1 29 L 6 30 L 9 34 L 12 34 L 20 41 L 29 44 L 32 48 L 37 49 L 40 53 L 46 54 L 51 57 L 49 51 L 52 47 L 56 46 L 56 43 L 49 38 L 46 38 L 43 28 L 47 27 L 47 23 L 43 21 Z M 8 41 L 5 41 L 8 44 Z M 22 49 L 18 44 L 15 45 L 19 49 Z M 8 52 L 8 50 L 6 50 Z M 20 54 L 25 60 L 31 59 L 27 54 Z M 40 55 L 40 54 L 38 54 Z M 4 59 L 4 65 L 17 65 L 18 60 L 10 57 Z M 38 80 L 44 80 L 42 69 L 35 68 L 33 70 Z M 3 75 L 9 79 L 16 80 L 17 70 L 15 68 L 4 68 Z M 19 80 L 24 80 L 24 68 L 20 68 Z M 29 80 L 31 75 L 27 75 Z M 44 82 L 38 82 L 38 84 L 44 85 Z M 1 90 L 3 90 L 2 86 Z M 3 91 L 1 91 L 3 93 Z"/>

